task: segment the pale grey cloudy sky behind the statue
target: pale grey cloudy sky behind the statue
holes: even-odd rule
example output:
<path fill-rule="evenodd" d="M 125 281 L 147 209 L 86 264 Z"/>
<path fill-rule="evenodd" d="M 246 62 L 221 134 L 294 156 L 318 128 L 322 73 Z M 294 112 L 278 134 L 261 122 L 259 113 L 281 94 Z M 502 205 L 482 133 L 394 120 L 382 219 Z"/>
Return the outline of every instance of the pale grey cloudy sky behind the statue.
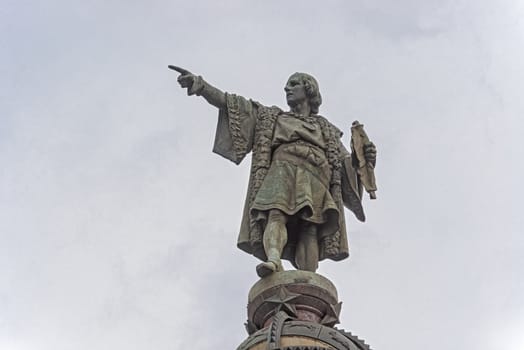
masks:
<path fill-rule="evenodd" d="M 168 64 L 320 113 L 378 148 L 351 256 L 321 262 L 373 349 L 524 349 L 524 3 L 0 5 L 0 349 L 235 349 L 258 261 L 236 248 L 249 159 Z M 287 265 L 289 267 L 289 265 Z"/>

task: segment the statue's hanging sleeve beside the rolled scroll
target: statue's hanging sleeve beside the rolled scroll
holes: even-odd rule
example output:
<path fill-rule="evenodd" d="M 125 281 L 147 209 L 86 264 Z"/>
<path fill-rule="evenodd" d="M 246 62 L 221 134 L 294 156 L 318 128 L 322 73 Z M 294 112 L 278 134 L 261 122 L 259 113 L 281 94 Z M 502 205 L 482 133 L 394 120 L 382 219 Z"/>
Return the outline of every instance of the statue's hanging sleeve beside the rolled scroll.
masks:
<path fill-rule="evenodd" d="M 341 190 L 344 206 L 351 210 L 360 221 L 366 220 L 362 207 L 362 184 L 357 171 L 353 167 L 352 156 L 341 144 L 340 155 L 342 162 Z"/>

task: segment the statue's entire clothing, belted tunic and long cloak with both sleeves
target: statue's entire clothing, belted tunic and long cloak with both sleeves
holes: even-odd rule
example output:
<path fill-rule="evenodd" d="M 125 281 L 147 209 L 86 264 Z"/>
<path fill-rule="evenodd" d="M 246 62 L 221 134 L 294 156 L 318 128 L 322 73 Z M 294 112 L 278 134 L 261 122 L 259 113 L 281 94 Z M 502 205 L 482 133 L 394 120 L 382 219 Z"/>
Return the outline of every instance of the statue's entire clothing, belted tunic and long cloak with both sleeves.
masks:
<path fill-rule="evenodd" d="M 266 260 L 262 239 L 268 211 L 289 216 L 282 258 L 295 264 L 304 223 L 317 225 L 319 259 L 349 255 L 343 206 L 364 221 L 362 187 L 342 132 L 322 116 L 297 116 L 226 94 L 213 151 L 239 164 L 252 152 L 251 174 L 237 245 Z"/>

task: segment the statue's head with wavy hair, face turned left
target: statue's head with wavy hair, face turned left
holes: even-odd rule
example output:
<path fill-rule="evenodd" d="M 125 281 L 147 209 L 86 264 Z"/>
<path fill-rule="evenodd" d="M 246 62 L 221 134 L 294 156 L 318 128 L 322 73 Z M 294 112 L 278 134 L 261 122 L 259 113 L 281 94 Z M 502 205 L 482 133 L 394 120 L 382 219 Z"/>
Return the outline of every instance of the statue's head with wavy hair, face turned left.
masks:
<path fill-rule="evenodd" d="M 315 78 L 306 73 L 292 74 L 284 88 L 286 99 L 289 107 L 301 103 L 307 99 L 312 114 L 318 113 L 318 107 L 322 104 L 322 96 L 318 89 L 318 83 Z"/>

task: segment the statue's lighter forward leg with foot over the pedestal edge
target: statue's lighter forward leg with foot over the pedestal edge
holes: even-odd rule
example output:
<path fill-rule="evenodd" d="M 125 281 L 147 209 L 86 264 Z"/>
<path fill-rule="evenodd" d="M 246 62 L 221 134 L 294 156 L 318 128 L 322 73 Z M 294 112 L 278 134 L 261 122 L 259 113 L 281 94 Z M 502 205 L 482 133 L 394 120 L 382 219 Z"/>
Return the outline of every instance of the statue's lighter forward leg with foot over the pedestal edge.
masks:
<path fill-rule="evenodd" d="M 280 257 L 287 243 L 287 216 L 278 209 L 271 209 L 268 214 L 266 229 L 264 230 L 264 251 L 267 262 L 257 266 L 257 273 L 265 277 L 275 271 L 282 271 Z"/>

